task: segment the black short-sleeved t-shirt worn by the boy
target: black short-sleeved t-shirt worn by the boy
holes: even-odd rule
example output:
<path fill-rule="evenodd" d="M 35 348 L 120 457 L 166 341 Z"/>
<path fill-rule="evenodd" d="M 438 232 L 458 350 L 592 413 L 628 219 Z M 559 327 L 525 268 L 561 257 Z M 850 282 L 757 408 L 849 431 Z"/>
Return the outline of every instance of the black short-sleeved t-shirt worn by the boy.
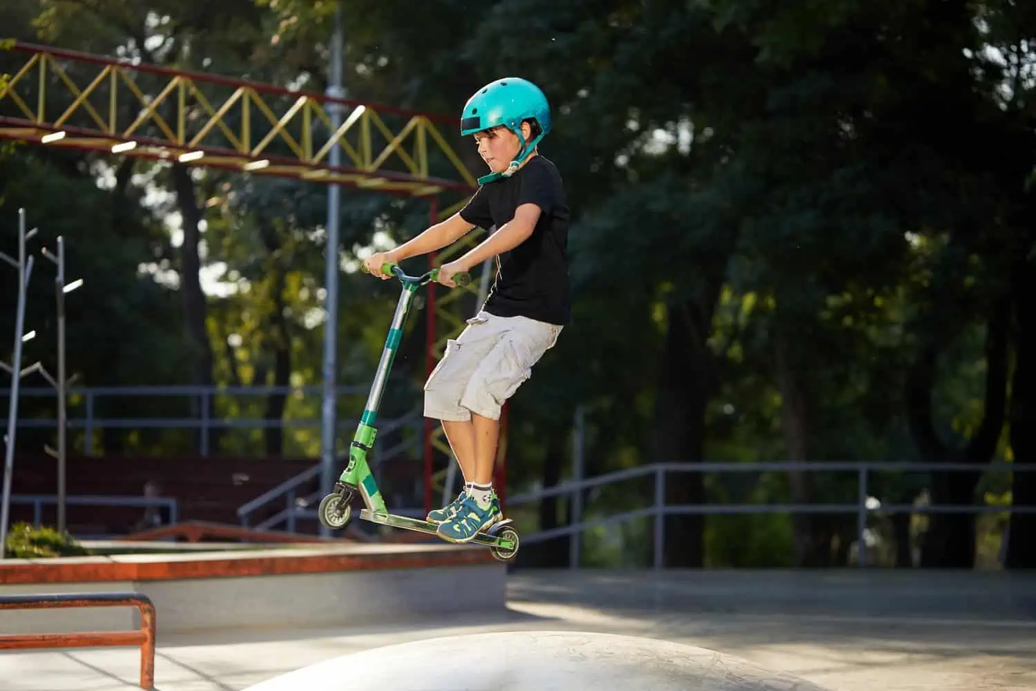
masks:
<path fill-rule="evenodd" d="M 496 278 L 483 309 L 499 317 L 565 325 L 572 316 L 566 256 L 569 203 L 554 164 L 533 156 L 511 177 L 479 188 L 460 215 L 473 226 L 499 229 L 527 203 L 540 207 L 540 219 L 521 244 L 497 256 Z"/>

